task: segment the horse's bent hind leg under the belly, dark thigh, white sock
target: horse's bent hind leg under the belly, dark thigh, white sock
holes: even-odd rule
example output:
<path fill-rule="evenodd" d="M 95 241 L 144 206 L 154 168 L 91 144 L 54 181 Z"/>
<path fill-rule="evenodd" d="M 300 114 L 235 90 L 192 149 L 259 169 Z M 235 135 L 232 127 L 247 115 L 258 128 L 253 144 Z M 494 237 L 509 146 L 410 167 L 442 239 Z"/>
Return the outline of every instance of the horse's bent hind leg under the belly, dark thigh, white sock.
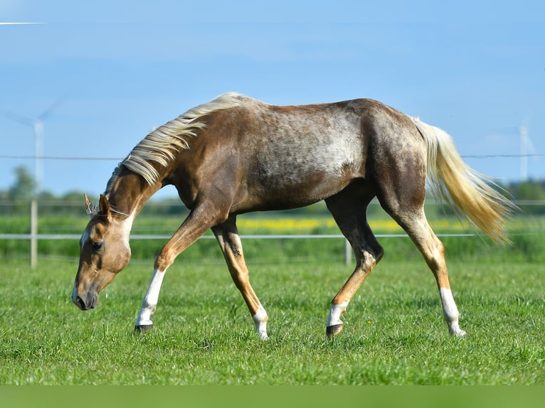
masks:
<path fill-rule="evenodd" d="M 346 311 L 352 297 L 384 253 L 367 222 L 366 210 L 372 197 L 371 193 L 362 194 L 361 190 L 356 190 L 354 185 L 351 185 L 326 200 L 327 208 L 350 242 L 356 257 L 354 272 L 332 299 L 326 325 L 327 338 L 332 338 L 342 331 L 344 326 L 341 320 L 342 313 Z"/>

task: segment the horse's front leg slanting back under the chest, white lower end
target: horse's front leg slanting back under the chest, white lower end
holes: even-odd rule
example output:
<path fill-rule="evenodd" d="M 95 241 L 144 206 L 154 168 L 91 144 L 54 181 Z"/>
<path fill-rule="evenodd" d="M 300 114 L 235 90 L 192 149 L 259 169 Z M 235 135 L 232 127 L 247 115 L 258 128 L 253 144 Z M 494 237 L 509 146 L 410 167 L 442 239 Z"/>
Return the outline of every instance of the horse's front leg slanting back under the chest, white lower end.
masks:
<path fill-rule="evenodd" d="M 228 218 L 223 224 L 212 227 L 212 231 L 214 235 L 216 235 L 216 240 L 218 240 L 221 252 L 223 252 L 223 257 L 226 259 L 231 277 L 233 278 L 237 289 L 240 291 L 240 294 L 242 294 L 246 306 L 248 306 L 248 309 L 250 310 L 258 335 L 260 335 L 262 340 L 268 340 L 267 312 L 250 285 L 242 242 L 240 241 L 240 236 L 238 235 L 238 229 L 236 227 L 236 217 L 233 216 Z"/>

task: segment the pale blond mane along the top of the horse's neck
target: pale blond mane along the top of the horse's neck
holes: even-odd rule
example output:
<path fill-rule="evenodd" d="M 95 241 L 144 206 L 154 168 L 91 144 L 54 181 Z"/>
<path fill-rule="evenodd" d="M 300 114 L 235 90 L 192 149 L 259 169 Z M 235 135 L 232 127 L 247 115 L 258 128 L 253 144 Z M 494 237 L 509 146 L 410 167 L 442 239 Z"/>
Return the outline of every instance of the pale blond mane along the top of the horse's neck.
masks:
<path fill-rule="evenodd" d="M 137 146 L 134 146 L 130 154 L 117 166 L 107 183 L 106 196 L 109 195 L 123 166 L 142 176 L 149 185 L 157 183 L 159 172 L 153 163 L 158 163 L 163 167 L 168 166 L 176 153 L 181 149 L 189 149 L 186 138 L 196 136 L 198 129 L 206 127 L 204 122 L 199 122 L 201 117 L 221 109 L 236 107 L 241 102 L 242 95 L 229 92 L 210 102 L 189 109 L 176 119 L 151 131 Z"/>

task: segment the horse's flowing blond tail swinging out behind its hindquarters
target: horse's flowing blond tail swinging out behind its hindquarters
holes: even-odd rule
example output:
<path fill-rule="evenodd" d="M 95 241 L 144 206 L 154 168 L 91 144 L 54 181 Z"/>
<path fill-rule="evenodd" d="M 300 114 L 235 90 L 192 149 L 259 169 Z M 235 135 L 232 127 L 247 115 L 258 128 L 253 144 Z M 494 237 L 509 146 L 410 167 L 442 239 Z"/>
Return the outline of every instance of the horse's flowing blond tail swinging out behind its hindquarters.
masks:
<path fill-rule="evenodd" d="M 413 119 L 428 152 L 428 181 L 455 213 L 463 215 L 495 242 L 509 242 L 503 221 L 516 206 L 490 178 L 467 166 L 453 139 L 443 130 Z"/>

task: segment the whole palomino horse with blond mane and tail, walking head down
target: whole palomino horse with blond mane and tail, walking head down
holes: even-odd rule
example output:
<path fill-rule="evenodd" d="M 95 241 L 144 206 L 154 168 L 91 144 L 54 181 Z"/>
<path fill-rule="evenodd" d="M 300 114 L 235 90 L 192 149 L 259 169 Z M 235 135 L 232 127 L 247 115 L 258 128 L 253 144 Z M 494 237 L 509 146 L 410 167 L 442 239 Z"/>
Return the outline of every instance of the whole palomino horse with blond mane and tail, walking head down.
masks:
<path fill-rule="evenodd" d="M 148 134 L 115 168 L 80 240 L 72 293 L 82 310 L 129 262 L 132 222 L 147 200 L 172 184 L 191 210 L 155 259 L 136 321 L 152 327 L 166 269 L 212 229 L 231 277 L 264 340 L 267 313 L 250 286 L 236 216 L 300 208 L 325 200 L 356 255 L 356 269 L 332 299 L 326 333 L 383 255 L 366 208 L 375 196 L 425 258 L 437 281 L 443 316 L 465 335 L 450 291 L 443 244 L 424 214 L 426 177 L 448 203 L 494 240 L 506 240 L 502 219 L 511 203 L 465 165 L 444 131 L 375 100 L 272 106 L 229 93 L 195 107 Z"/>

